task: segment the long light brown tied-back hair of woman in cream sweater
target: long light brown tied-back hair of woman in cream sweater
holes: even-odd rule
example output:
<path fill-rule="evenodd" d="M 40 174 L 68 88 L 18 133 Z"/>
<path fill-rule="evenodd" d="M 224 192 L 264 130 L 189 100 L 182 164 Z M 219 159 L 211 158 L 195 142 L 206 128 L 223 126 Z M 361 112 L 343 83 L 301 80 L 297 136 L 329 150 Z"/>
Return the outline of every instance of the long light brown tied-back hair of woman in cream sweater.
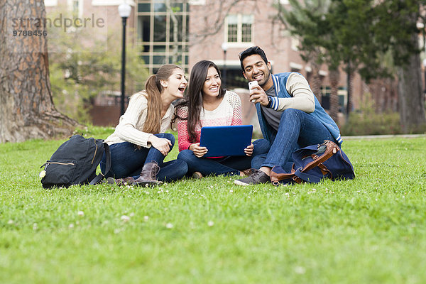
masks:
<path fill-rule="evenodd" d="M 160 80 L 167 81 L 175 69 L 182 70 L 178 65 L 166 64 L 158 69 L 157 74 L 148 77 L 145 82 L 146 99 L 148 99 L 148 110 L 143 132 L 158 134 L 161 124 L 161 93 L 163 86 Z"/>

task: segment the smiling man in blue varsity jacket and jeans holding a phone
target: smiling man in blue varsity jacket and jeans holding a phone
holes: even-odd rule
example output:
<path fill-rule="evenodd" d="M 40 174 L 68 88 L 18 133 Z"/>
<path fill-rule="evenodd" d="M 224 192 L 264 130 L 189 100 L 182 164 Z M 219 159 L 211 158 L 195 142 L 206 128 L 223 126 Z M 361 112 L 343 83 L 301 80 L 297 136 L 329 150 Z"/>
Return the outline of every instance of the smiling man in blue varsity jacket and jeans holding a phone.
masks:
<path fill-rule="evenodd" d="M 342 143 L 339 127 L 321 107 L 305 77 L 297 72 L 271 74 L 271 62 L 258 46 L 241 52 L 239 60 L 244 77 L 258 82 L 251 88 L 250 101 L 256 106 L 263 138 L 271 142 L 271 149 L 251 162 L 260 163 L 260 170 L 235 180 L 236 185 L 270 182 L 274 165 L 290 170 L 291 154 L 297 148 L 324 140 Z"/>

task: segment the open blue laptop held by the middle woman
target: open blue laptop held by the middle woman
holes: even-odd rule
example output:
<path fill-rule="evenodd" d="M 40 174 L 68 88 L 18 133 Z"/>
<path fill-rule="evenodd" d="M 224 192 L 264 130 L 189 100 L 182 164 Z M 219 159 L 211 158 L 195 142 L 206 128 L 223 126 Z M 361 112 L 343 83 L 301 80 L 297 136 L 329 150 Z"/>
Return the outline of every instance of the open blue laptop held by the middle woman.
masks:
<path fill-rule="evenodd" d="M 244 149 L 251 144 L 252 133 L 252 125 L 204 126 L 200 146 L 209 150 L 204 157 L 246 155 Z"/>

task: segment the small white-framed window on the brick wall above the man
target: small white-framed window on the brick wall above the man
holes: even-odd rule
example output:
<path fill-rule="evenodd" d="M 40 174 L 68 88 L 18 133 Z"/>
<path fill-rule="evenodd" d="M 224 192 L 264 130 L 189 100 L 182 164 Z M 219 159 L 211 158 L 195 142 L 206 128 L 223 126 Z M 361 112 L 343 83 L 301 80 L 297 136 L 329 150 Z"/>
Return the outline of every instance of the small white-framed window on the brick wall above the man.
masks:
<path fill-rule="evenodd" d="M 251 43 L 253 40 L 253 15 L 229 15 L 225 27 L 228 43 Z"/>

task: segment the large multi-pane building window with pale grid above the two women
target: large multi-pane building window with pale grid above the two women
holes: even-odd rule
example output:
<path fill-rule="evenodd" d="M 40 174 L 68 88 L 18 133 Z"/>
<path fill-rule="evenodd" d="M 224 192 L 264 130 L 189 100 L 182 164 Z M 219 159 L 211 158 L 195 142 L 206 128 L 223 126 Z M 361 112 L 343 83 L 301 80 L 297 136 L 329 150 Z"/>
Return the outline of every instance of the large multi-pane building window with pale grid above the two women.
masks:
<path fill-rule="evenodd" d="M 188 70 L 188 0 L 139 0 L 137 11 L 138 41 L 141 57 L 149 72 L 155 73 L 165 63 Z M 176 29 L 176 31 L 175 31 Z"/>

